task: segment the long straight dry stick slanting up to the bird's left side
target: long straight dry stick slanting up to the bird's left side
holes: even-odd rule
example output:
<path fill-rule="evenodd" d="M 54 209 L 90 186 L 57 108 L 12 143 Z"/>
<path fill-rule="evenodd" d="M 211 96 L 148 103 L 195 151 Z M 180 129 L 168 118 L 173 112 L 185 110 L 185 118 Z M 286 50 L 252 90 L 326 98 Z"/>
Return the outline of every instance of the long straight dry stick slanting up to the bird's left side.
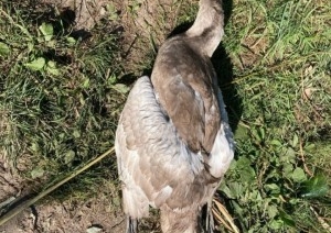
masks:
<path fill-rule="evenodd" d="M 28 200 L 26 202 L 18 206 L 17 208 L 12 209 L 11 211 L 9 211 L 8 213 L 6 213 L 1 219 L 0 219 L 0 225 L 4 224 L 6 222 L 8 222 L 9 220 L 11 220 L 13 217 L 15 217 L 17 214 L 19 214 L 20 212 L 22 212 L 24 209 L 26 209 L 28 207 L 34 204 L 36 201 L 39 201 L 40 199 L 42 199 L 43 197 L 47 196 L 50 192 L 54 191 L 55 189 L 57 189 L 60 186 L 64 185 L 65 182 L 67 182 L 68 180 L 73 179 L 74 177 L 76 177 L 77 175 L 79 175 L 81 173 L 85 171 L 86 169 L 88 169 L 89 167 L 92 167 L 93 165 L 95 165 L 96 163 L 100 162 L 103 158 L 105 158 L 106 156 L 113 154 L 115 151 L 115 147 L 113 146 L 110 149 L 108 149 L 107 152 L 105 152 L 104 154 L 102 154 L 100 156 L 98 156 L 96 159 L 89 162 L 88 164 L 86 164 L 84 167 L 82 167 L 78 170 L 73 171 L 70 176 L 67 176 L 66 178 L 64 178 L 63 180 L 61 180 L 60 182 L 55 184 L 54 186 L 51 186 L 50 188 L 47 188 L 46 190 L 42 191 L 41 193 L 39 193 L 38 196 L 35 196 L 34 198 L 31 198 L 30 200 Z"/>

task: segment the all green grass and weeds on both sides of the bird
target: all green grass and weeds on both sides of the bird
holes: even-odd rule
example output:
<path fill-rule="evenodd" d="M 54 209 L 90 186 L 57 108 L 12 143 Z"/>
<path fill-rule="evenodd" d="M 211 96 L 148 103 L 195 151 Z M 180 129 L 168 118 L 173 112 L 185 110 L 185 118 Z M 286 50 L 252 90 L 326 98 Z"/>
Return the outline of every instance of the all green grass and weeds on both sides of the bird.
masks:
<path fill-rule="evenodd" d="M 237 144 L 220 193 L 242 232 L 328 232 L 330 4 L 224 2 L 229 18 L 213 63 Z M 177 24 L 194 20 L 190 5 L 181 5 Z M 113 146 L 128 91 L 119 79 L 126 75 L 122 41 L 104 33 L 116 27 L 108 21 L 86 37 L 51 8 L 4 1 L 0 9 L 0 153 L 22 176 L 53 180 Z M 153 46 L 145 48 L 147 56 L 154 56 Z M 146 60 L 137 62 L 138 73 L 150 69 L 152 60 Z M 71 182 L 65 195 L 79 199 L 98 186 L 116 189 L 114 162 Z M 89 190 L 82 191 L 86 184 Z"/>

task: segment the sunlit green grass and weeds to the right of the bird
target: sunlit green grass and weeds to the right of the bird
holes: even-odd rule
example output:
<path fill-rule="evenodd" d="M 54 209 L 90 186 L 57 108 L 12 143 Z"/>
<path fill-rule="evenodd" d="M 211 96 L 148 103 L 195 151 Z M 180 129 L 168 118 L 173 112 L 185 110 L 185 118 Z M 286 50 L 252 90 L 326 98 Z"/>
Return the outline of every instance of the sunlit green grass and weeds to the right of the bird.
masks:
<path fill-rule="evenodd" d="M 330 4 L 234 5 L 223 45 L 241 108 L 227 97 L 237 149 L 221 191 L 244 232 L 327 232 L 311 208 L 330 224 Z"/>

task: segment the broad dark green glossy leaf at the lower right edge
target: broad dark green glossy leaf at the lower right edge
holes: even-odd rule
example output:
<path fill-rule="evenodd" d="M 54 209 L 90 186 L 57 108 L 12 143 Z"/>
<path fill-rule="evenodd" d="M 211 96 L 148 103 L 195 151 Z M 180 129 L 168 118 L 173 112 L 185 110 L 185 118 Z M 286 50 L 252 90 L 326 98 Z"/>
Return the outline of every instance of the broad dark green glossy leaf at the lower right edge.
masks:
<path fill-rule="evenodd" d="M 318 174 L 303 184 L 302 198 L 320 198 L 329 192 L 328 180 L 322 174 Z"/>

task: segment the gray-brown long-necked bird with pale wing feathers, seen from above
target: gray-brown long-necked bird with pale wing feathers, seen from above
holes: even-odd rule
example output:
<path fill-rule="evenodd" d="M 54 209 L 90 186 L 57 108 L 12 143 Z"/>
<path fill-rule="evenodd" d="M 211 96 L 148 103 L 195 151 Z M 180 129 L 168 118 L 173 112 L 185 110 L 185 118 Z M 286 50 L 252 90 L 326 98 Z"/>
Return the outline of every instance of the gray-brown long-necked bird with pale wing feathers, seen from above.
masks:
<path fill-rule="evenodd" d="M 151 79 L 138 79 L 128 97 L 115 142 L 127 232 L 150 206 L 163 232 L 201 231 L 201 208 L 211 209 L 234 149 L 210 60 L 222 36 L 221 1 L 201 0 L 192 27 L 164 42 Z"/>

